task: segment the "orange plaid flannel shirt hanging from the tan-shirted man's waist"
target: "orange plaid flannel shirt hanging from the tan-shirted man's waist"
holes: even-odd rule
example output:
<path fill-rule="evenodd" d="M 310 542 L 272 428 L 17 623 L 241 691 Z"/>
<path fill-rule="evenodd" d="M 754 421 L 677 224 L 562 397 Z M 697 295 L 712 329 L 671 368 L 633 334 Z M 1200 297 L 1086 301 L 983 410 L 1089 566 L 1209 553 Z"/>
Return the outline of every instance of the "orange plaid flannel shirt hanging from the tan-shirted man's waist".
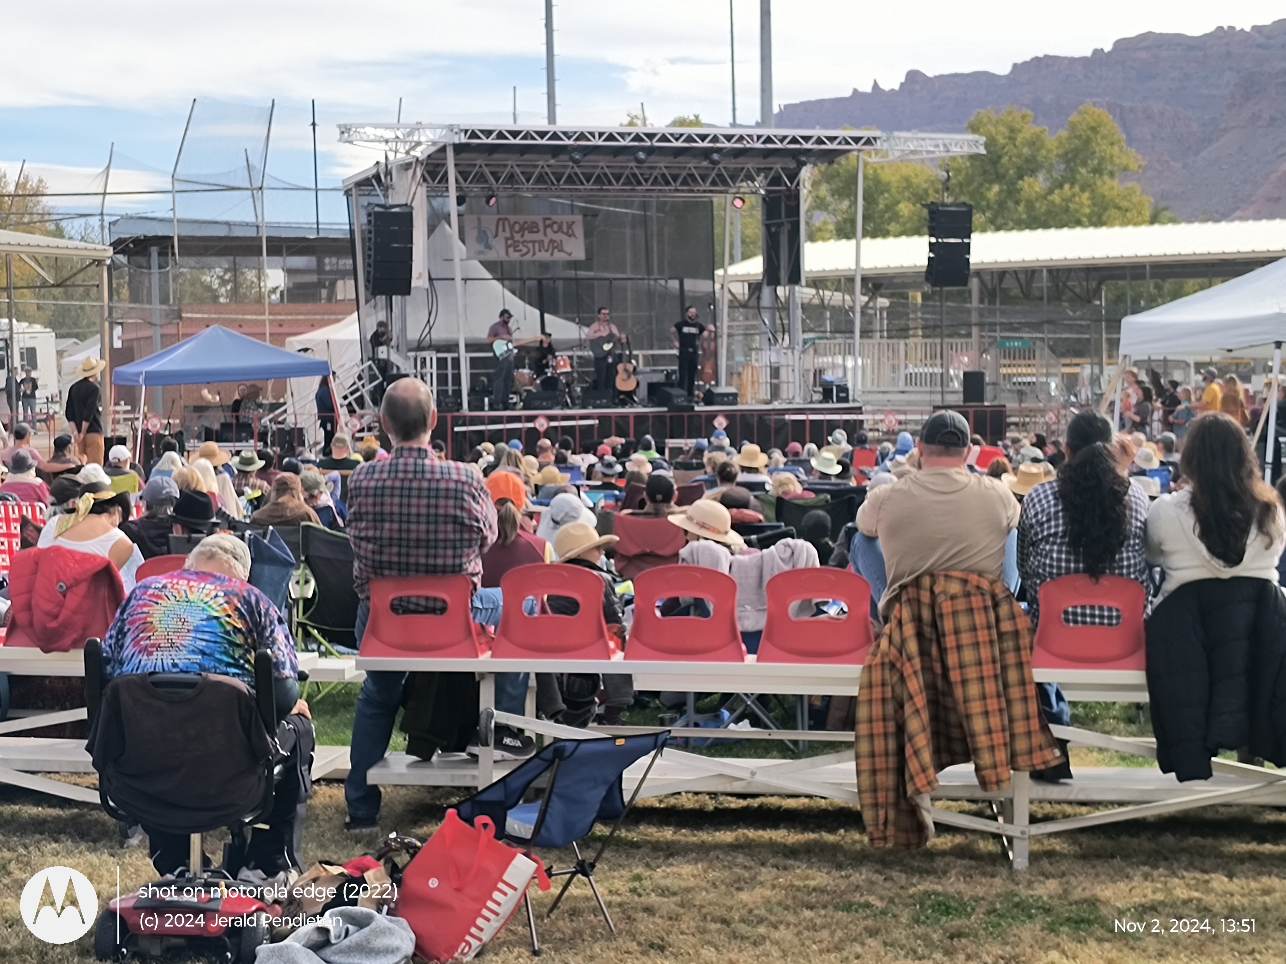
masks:
<path fill-rule="evenodd" d="M 974 761 L 985 790 L 1011 770 L 1062 758 L 1040 716 L 1031 623 L 1001 580 L 968 572 L 918 577 L 894 600 L 862 671 L 858 797 L 873 847 L 922 847 L 913 797 L 939 771 Z"/>

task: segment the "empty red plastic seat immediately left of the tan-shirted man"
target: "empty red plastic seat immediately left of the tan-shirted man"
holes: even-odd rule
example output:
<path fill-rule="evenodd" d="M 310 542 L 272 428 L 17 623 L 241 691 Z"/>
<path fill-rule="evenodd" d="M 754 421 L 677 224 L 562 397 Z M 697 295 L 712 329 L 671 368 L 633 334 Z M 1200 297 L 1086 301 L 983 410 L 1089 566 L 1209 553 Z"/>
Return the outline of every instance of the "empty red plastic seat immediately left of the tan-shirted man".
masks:
<path fill-rule="evenodd" d="M 757 663 L 845 663 L 860 666 L 874 645 L 871 584 L 847 569 L 788 569 L 768 581 L 768 621 Z M 795 620 L 801 599 L 835 599 L 849 607 L 842 620 Z"/>

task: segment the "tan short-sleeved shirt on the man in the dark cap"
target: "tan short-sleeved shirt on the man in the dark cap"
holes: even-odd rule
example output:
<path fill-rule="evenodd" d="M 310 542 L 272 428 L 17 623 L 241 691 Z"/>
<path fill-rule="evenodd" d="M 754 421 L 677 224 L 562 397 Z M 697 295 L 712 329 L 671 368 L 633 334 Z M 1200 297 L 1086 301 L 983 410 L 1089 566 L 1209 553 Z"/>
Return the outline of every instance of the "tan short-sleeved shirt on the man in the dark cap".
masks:
<path fill-rule="evenodd" d="M 858 530 L 880 540 L 889 589 L 927 572 L 976 572 L 1001 578 L 1004 541 L 1019 524 L 1019 500 L 997 478 L 967 469 L 919 469 L 874 488 L 858 509 Z"/>

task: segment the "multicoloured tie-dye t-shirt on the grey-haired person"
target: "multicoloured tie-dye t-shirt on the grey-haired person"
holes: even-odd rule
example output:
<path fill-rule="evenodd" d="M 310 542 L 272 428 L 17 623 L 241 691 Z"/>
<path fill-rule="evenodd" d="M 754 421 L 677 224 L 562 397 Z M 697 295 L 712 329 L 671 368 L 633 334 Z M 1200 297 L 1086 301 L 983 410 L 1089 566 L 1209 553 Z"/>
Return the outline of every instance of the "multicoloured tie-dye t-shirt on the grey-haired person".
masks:
<path fill-rule="evenodd" d="M 298 656 L 275 605 L 253 586 L 181 569 L 143 580 L 103 640 L 103 674 L 211 672 L 255 685 L 255 650 L 273 653 L 273 675 L 294 679 Z"/>

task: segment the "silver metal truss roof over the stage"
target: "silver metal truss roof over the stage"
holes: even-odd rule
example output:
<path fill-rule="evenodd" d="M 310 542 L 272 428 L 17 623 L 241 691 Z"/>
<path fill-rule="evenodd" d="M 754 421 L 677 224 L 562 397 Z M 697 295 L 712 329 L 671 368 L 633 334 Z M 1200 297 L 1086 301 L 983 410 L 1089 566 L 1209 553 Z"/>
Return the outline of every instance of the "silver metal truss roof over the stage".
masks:
<path fill-rule="evenodd" d="M 340 140 L 414 163 L 446 192 L 446 145 L 458 190 L 522 194 L 711 195 L 795 186 L 808 166 L 858 150 L 903 159 L 984 153 L 970 134 L 774 130 L 757 127 L 514 127 L 341 125 Z M 345 186 L 377 180 L 376 166 Z"/>

